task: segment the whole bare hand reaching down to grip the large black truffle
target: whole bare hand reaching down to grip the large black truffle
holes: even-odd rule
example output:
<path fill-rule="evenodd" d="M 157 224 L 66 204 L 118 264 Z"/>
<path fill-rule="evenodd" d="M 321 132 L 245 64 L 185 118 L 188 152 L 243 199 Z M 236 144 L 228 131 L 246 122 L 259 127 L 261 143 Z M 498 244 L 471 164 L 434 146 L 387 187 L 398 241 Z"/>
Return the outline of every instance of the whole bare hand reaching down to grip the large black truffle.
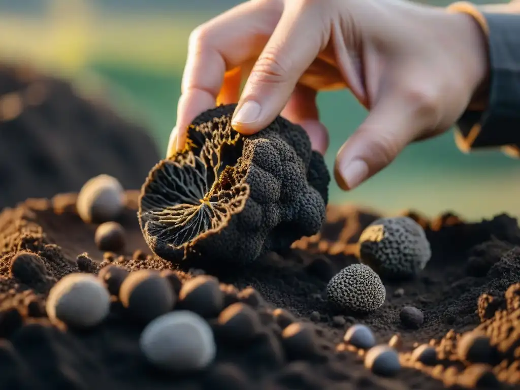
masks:
<path fill-rule="evenodd" d="M 410 142 L 457 121 L 486 80 L 486 50 L 470 16 L 443 8 L 400 0 L 251 0 L 192 33 L 169 149 L 184 146 L 195 116 L 216 102 L 238 101 L 237 131 L 254 134 L 281 113 L 324 153 L 328 134 L 316 96 L 346 87 L 370 111 L 336 157 L 336 181 L 352 189 Z"/>

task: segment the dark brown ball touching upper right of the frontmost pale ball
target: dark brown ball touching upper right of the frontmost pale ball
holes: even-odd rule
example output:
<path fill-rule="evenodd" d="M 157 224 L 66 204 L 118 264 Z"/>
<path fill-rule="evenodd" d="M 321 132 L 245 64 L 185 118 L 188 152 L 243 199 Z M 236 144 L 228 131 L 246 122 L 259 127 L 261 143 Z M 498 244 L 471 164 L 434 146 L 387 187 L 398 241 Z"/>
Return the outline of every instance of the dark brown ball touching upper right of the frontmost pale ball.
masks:
<path fill-rule="evenodd" d="M 186 281 L 179 292 L 179 306 L 205 318 L 216 317 L 224 306 L 218 280 L 202 275 Z"/>

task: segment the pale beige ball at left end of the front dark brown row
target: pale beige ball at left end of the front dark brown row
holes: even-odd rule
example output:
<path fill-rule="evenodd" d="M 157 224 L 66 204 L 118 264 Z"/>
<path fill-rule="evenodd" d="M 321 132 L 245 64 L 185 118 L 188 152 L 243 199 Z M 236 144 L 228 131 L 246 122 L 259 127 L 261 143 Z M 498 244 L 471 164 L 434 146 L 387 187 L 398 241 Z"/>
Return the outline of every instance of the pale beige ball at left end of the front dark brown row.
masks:
<path fill-rule="evenodd" d="M 94 275 L 69 274 L 50 290 L 46 311 L 50 320 L 78 328 L 94 327 L 110 311 L 110 294 Z"/>

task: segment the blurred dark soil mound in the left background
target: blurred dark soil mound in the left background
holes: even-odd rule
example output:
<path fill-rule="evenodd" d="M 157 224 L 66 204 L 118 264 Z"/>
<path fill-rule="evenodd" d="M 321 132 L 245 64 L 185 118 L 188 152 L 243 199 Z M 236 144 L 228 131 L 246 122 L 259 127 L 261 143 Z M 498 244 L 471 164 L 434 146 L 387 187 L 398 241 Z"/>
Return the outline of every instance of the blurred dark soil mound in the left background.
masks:
<path fill-rule="evenodd" d="M 138 189 L 159 160 L 144 128 L 66 81 L 0 64 L 0 207 L 79 191 L 99 174 Z"/>

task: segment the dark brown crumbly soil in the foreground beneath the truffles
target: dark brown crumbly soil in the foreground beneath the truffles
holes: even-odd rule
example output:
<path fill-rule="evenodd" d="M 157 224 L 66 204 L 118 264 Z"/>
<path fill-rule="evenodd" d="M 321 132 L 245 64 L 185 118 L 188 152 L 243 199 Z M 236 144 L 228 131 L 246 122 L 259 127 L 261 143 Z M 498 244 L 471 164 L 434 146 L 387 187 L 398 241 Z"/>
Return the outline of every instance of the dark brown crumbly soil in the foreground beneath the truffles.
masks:
<path fill-rule="evenodd" d="M 237 346 L 229 342 L 233 335 L 222 334 L 210 319 L 217 357 L 201 373 L 173 374 L 150 368 L 138 346 L 142 324 L 126 317 L 117 302 L 108 319 L 95 329 L 76 331 L 51 324 L 43 309 L 45 297 L 51 285 L 71 272 L 97 273 L 99 267 L 119 264 L 131 271 L 174 269 L 181 280 L 200 274 L 201 270 L 175 269 L 151 255 L 137 222 L 137 195 L 127 192 L 127 207 L 118 221 L 126 230 L 124 253 L 103 253 L 96 248 L 96 226 L 84 224 L 77 216 L 74 194 L 30 200 L 0 214 L 2 388 L 426 390 L 520 384 L 520 287 L 510 288 L 520 281 L 516 247 L 520 230 L 516 219 L 507 215 L 464 224 L 451 214 L 429 221 L 409 213 L 426 227 L 433 257 L 416 280 L 385 283 L 384 305 L 360 316 L 332 311 L 326 286 L 337 271 L 357 261 L 349 254 L 349 244 L 380 215 L 329 205 L 320 235 L 296 242 L 283 256 L 269 253 L 244 268 L 218 264 L 205 270 L 222 283 L 225 305 L 250 304 L 263 327 L 249 344 Z M 45 275 L 23 272 L 23 282 L 12 275 L 11 260 L 21 251 L 39 255 Z M 261 298 L 251 294 L 249 286 Z M 423 311 L 419 329 L 402 326 L 399 311 L 403 306 Z M 291 349 L 294 345 L 281 342 L 275 308 L 288 310 L 293 321 L 314 327 L 310 353 L 300 356 Z M 399 334 L 404 368 L 395 378 L 372 374 L 363 367 L 363 350 L 342 343 L 346 329 L 354 323 L 367 324 L 379 343 Z M 474 328 L 490 337 L 494 360 L 472 364 L 457 355 L 459 334 Z M 438 351 L 438 361 L 431 366 L 411 358 L 413 348 L 424 343 Z"/>

